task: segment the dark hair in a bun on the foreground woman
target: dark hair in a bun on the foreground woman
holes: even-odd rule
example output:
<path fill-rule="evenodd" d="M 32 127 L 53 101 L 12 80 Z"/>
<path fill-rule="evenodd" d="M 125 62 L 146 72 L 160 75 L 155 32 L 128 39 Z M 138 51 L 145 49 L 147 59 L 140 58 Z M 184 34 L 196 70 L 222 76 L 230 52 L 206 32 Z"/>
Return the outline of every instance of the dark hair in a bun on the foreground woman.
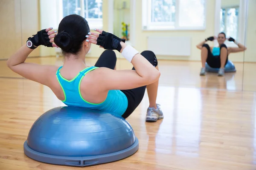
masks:
<path fill-rule="evenodd" d="M 87 20 L 80 15 L 71 14 L 61 20 L 54 42 L 61 48 L 64 55 L 66 53 L 77 54 L 89 32 Z"/>

